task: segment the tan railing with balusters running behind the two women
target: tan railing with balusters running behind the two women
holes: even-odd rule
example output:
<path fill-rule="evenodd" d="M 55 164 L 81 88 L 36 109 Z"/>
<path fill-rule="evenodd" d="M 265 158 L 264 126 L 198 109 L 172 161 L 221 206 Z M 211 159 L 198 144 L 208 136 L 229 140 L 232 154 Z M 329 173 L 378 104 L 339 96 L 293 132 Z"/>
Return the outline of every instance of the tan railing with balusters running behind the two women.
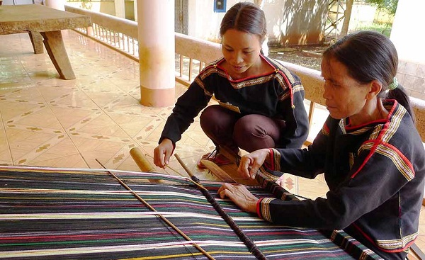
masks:
<path fill-rule="evenodd" d="M 66 11 L 80 13 L 91 17 L 91 28 L 77 29 L 89 38 L 107 45 L 118 52 L 138 61 L 137 23 L 117 18 L 104 13 L 96 13 L 72 6 L 65 6 Z M 176 81 L 188 86 L 205 64 L 222 56 L 218 43 L 193 38 L 176 33 Z M 305 98 L 310 101 L 309 120 L 313 122 L 315 104 L 324 105 L 323 80 L 320 72 L 296 64 L 280 61 L 285 67 L 300 77 L 305 88 Z M 411 98 L 416 113 L 416 128 L 425 142 L 425 101 Z"/>

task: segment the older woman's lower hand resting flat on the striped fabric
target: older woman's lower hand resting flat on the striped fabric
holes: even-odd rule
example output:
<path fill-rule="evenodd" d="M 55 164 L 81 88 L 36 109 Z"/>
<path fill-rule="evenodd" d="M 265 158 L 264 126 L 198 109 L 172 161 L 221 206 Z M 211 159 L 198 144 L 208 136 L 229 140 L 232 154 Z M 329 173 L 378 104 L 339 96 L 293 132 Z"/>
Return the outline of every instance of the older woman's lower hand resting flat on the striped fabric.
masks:
<path fill-rule="evenodd" d="M 259 198 L 252 195 L 244 185 L 225 183 L 218 189 L 218 194 L 220 198 L 229 198 L 242 210 L 256 213 L 256 203 Z"/>

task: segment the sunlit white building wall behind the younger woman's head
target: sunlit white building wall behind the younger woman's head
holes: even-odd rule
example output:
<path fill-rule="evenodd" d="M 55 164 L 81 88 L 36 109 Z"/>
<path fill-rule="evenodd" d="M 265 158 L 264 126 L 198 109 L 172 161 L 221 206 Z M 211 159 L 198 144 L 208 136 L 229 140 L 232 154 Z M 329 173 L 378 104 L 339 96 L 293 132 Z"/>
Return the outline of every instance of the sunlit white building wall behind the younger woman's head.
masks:
<path fill-rule="evenodd" d="M 263 0 L 271 45 L 317 44 L 324 40 L 327 4 L 313 0 Z M 229 10 L 237 0 L 227 0 Z M 249 1 L 254 2 L 254 1 Z M 213 0 L 189 0 L 188 35 L 220 42 L 218 30 L 225 13 L 213 12 Z"/>

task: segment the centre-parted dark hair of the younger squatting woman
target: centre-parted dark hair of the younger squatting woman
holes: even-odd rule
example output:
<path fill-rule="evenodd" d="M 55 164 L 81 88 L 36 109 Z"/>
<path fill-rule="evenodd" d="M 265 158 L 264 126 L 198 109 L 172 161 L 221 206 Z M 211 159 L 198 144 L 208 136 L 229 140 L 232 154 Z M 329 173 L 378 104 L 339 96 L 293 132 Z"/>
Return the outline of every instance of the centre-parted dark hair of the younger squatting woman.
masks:
<path fill-rule="evenodd" d="M 267 34 L 266 16 L 256 4 L 239 2 L 232 6 L 223 17 L 220 25 L 220 37 L 229 29 L 259 35 L 260 41 L 263 43 Z"/>

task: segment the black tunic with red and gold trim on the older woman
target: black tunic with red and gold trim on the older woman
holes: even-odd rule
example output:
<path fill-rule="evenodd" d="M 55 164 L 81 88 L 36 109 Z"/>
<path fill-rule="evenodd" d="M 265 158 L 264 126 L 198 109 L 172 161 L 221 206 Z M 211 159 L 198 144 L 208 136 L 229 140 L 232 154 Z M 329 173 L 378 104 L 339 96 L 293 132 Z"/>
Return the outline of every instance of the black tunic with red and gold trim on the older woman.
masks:
<path fill-rule="evenodd" d="M 324 173 L 329 192 L 316 200 L 262 198 L 259 215 L 295 227 L 344 229 L 384 259 L 404 259 L 418 235 L 425 152 L 406 109 L 393 100 L 384 106 L 386 119 L 356 127 L 327 118 L 308 149 L 271 149 L 271 169 L 310 179 Z"/>

